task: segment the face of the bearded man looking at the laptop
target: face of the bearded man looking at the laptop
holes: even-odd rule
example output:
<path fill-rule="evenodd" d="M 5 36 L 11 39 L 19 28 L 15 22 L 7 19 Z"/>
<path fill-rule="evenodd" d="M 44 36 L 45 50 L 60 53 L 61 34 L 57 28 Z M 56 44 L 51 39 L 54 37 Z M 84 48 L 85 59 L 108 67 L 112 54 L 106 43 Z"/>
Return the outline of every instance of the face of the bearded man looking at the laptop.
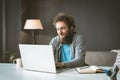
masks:
<path fill-rule="evenodd" d="M 60 40 L 61 41 L 64 41 L 66 40 L 66 38 L 68 38 L 68 36 L 70 35 L 70 32 L 72 29 L 70 29 L 64 21 L 58 21 L 56 23 L 56 30 L 57 30 L 57 33 L 60 37 Z"/>

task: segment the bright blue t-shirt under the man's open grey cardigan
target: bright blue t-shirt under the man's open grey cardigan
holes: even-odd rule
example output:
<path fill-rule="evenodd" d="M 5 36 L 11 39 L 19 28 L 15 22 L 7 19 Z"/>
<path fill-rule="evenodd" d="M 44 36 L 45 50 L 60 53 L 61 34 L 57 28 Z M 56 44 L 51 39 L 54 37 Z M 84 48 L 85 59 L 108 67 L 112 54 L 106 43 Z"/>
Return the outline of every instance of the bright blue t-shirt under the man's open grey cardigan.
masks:
<path fill-rule="evenodd" d="M 71 59 L 72 59 L 72 55 L 71 55 L 71 52 L 70 52 L 70 45 L 69 44 L 63 44 L 61 61 L 66 62 L 66 61 L 70 61 Z"/>

